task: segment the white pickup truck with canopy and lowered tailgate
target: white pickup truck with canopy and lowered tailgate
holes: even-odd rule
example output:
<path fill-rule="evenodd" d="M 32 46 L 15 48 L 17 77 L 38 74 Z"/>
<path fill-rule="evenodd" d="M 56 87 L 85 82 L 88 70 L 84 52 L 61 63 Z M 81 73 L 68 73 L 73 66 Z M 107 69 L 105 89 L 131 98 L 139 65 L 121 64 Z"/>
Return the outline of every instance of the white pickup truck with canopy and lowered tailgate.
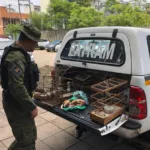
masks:
<path fill-rule="evenodd" d="M 113 133 L 134 138 L 150 130 L 150 29 L 91 27 L 69 31 L 56 56 L 55 70 L 60 67 L 68 69 L 59 76 L 69 73 L 73 81 L 76 79 L 71 84 L 75 90 L 84 91 L 97 81 L 114 77 L 126 80 L 125 111 L 103 125 L 91 120 L 90 102 L 86 110 L 77 112 L 66 112 L 60 105 L 47 107 L 35 101 L 37 105 L 102 136 Z M 90 99 L 90 89 L 84 92 Z"/>

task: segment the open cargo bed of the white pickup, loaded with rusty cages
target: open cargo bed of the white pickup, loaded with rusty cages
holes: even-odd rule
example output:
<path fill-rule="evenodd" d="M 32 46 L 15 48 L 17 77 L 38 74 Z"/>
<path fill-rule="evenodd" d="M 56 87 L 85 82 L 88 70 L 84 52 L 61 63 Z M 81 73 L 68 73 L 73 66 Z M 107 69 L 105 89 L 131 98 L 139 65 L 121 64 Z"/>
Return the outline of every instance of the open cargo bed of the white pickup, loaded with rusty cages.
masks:
<path fill-rule="evenodd" d="M 128 104 L 129 104 L 128 100 L 129 100 L 130 75 L 103 72 L 98 70 L 89 70 L 89 69 L 87 70 L 77 67 L 69 68 L 68 66 L 57 66 L 55 68 L 54 77 L 53 78 L 48 77 L 48 80 L 47 76 L 44 77 L 44 79 L 46 80 L 43 79 L 44 83 L 43 89 L 44 91 L 47 90 L 47 92 L 51 93 L 53 96 L 50 96 L 50 98 L 47 97 L 46 100 L 41 101 L 35 100 L 35 103 L 39 107 L 49 112 L 52 112 L 77 125 L 80 125 L 82 128 L 93 130 L 94 132 L 100 135 L 109 134 L 121 126 L 131 129 L 140 128 L 139 124 L 128 121 L 128 115 L 126 115 L 126 112 L 128 112 Z M 61 77 L 61 84 L 59 83 L 60 77 Z M 115 81 L 113 80 L 114 78 Z M 118 83 L 117 80 L 119 80 L 119 83 L 122 83 L 122 81 L 123 83 L 124 81 L 127 82 L 121 86 L 120 85 L 117 86 L 116 85 L 116 82 Z M 73 93 L 74 91 L 83 91 L 87 94 L 89 105 L 85 110 L 65 111 L 61 109 L 62 103 L 68 99 L 64 98 L 64 94 L 68 93 L 66 86 L 67 85 L 66 83 L 68 83 L 68 81 L 71 83 L 71 93 Z M 48 83 L 50 83 L 50 85 L 48 85 Z M 114 86 L 114 84 L 115 87 L 118 88 L 110 90 L 112 88 L 112 85 Z M 59 89 L 59 85 L 62 85 L 61 87 L 62 91 Z M 99 89 L 100 90 L 102 89 L 101 85 L 107 87 L 107 89 L 104 89 L 106 91 L 100 93 L 108 93 L 107 92 L 108 90 L 111 91 L 111 94 L 115 94 L 117 96 L 117 93 L 120 94 L 121 92 L 126 91 L 123 92 L 123 95 L 125 94 L 124 95 L 125 97 L 121 94 L 123 97 L 118 97 L 119 101 L 118 100 L 116 101 L 113 100 L 113 98 L 111 100 L 111 98 L 107 94 L 105 96 L 103 95 L 106 98 L 106 100 L 103 99 L 104 103 L 102 104 L 101 101 L 100 104 L 102 105 L 99 106 L 99 103 L 97 104 L 97 102 L 99 102 L 99 99 L 101 99 L 102 96 L 101 94 L 100 95 L 98 94 Z M 122 101 L 122 99 L 124 100 Z M 95 121 L 91 120 L 91 112 L 93 112 L 96 109 L 101 109 L 104 105 L 107 105 L 107 103 L 109 105 L 114 105 L 115 103 L 118 102 L 123 103 L 123 105 L 125 106 L 125 111 L 118 114 L 116 117 L 112 117 L 112 119 L 108 123 L 96 122 L 99 121 L 99 119 L 98 120 L 94 119 Z"/>

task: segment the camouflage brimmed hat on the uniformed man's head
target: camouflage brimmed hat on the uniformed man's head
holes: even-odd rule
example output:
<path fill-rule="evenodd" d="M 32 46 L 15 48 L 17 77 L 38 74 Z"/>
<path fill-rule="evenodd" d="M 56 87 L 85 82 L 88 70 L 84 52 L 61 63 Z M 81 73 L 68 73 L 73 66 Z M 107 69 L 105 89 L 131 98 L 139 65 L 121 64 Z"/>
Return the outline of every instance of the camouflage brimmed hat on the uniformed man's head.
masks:
<path fill-rule="evenodd" d="M 29 39 L 36 42 L 40 41 L 41 32 L 32 24 L 24 24 L 20 31 L 23 32 Z"/>

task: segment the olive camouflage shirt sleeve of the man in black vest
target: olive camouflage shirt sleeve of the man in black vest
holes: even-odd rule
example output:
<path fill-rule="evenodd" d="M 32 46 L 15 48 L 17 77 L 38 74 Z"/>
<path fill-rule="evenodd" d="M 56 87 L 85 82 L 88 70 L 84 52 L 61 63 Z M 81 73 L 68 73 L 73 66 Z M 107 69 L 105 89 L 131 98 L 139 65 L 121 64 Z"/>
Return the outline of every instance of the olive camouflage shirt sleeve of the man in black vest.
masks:
<path fill-rule="evenodd" d="M 16 44 L 13 46 L 18 47 Z M 5 63 L 8 69 L 10 94 L 24 110 L 31 112 L 36 108 L 36 105 L 24 85 L 25 67 L 27 65 L 25 56 L 20 51 L 11 51 L 5 59 Z"/>

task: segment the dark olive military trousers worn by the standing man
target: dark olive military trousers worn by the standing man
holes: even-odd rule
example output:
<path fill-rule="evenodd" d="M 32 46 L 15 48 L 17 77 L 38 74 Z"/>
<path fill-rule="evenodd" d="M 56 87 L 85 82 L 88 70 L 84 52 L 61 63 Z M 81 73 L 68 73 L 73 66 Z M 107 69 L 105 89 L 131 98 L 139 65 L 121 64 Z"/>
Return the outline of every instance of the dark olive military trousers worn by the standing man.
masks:
<path fill-rule="evenodd" d="M 16 109 L 12 105 L 9 106 L 5 100 L 3 100 L 3 107 L 15 137 L 15 141 L 8 150 L 36 150 L 37 129 L 35 121 L 27 116 L 17 116 L 19 112 L 14 111 Z"/>

